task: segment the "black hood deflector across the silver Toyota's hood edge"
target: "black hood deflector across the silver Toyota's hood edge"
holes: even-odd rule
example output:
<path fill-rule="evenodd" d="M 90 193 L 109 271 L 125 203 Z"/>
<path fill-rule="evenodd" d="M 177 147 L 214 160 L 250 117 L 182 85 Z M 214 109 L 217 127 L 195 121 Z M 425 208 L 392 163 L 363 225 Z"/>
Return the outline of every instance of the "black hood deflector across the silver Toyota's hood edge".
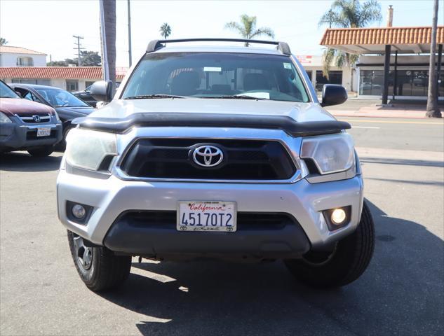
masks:
<path fill-rule="evenodd" d="M 339 133 L 351 128 L 337 120 L 297 122 L 289 116 L 225 113 L 134 113 L 126 118 L 76 118 L 73 124 L 88 130 L 124 133 L 131 127 L 241 127 L 283 130 L 292 137 Z"/>

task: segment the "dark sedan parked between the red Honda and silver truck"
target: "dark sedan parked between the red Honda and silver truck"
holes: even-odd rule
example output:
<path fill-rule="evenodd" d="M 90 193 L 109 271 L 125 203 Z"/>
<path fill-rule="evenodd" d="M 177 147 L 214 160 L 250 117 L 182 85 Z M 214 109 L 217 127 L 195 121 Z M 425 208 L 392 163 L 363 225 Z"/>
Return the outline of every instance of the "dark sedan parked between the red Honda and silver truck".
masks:
<path fill-rule="evenodd" d="M 34 84 L 10 84 L 25 99 L 51 106 L 57 111 L 63 123 L 63 140 L 60 147 L 65 147 L 65 138 L 72 127 L 71 121 L 75 118 L 88 116 L 95 109 L 73 94 L 58 87 Z"/>

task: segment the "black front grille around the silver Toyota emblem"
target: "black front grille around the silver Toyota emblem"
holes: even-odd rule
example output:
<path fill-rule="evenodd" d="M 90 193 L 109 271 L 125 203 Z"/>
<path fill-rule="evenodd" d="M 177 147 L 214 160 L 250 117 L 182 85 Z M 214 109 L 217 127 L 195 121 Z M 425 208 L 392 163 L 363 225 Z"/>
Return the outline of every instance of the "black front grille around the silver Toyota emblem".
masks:
<path fill-rule="evenodd" d="M 193 159 L 199 146 L 220 148 L 224 160 L 201 167 Z M 295 162 L 278 141 L 234 139 L 140 139 L 121 163 L 128 176 L 193 180 L 288 180 Z"/>

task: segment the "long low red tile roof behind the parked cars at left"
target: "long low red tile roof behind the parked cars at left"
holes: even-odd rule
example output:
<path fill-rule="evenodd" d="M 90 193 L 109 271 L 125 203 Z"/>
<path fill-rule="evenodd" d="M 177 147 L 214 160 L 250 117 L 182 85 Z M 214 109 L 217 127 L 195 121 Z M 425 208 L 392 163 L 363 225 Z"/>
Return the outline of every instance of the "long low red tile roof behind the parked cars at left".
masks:
<path fill-rule="evenodd" d="M 126 69 L 116 69 L 116 79 L 123 79 Z M 102 79 L 100 66 L 2 66 L 0 78 Z"/>

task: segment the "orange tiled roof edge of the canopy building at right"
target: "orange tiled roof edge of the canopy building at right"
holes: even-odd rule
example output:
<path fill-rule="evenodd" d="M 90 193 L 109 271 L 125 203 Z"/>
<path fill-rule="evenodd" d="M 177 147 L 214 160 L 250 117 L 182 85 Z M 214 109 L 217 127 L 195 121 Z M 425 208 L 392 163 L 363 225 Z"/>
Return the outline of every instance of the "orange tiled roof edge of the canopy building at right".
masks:
<path fill-rule="evenodd" d="M 444 26 L 438 27 L 436 42 L 444 44 Z M 321 45 L 399 45 L 431 43 L 431 27 L 379 27 L 326 29 Z"/>

